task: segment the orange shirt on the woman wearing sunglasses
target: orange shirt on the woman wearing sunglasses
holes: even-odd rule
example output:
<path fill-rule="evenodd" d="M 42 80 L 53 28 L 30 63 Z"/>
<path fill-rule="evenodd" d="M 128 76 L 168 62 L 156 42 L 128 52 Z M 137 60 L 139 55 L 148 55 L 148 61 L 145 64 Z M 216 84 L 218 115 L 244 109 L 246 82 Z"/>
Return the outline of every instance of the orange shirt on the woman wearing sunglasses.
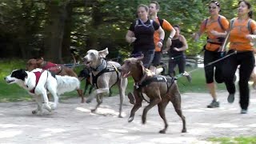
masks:
<path fill-rule="evenodd" d="M 210 32 L 211 30 L 218 31 L 219 33 L 224 33 L 226 30 L 229 29 L 229 21 L 222 15 L 218 15 L 218 16 L 220 16 L 220 22 L 222 23 L 222 26 L 220 26 L 218 22 L 218 17 L 215 18 L 214 20 L 208 18 L 207 23 L 206 23 L 206 20 L 204 20 L 200 26 L 200 34 L 206 33 L 210 42 L 218 42 L 218 39 L 217 39 L 218 37 L 215 37 L 213 34 L 211 34 Z M 222 30 L 222 27 L 224 30 Z M 209 42 L 207 42 L 206 44 L 206 50 L 216 51 L 219 48 L 220 48 L 220 45 L 218 44 L 213 44 Z"/>

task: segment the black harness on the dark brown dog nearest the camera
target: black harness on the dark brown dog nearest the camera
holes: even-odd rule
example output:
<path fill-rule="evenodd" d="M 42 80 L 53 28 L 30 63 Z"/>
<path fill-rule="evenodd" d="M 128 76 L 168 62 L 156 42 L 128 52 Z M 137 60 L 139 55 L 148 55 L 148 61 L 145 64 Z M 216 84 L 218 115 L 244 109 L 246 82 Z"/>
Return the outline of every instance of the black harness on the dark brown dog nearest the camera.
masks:
<path fill-rule="evenodd" d="M 174 81 L 177 80 L 176 78 L 173 78 L 173 77 L 165 77 L 165 76 L 162 76 L 162 75 L 154 75 L 152 78 L 147 78 L 146 80 L 142 81 L 141 84 L 138 84 L 136 83 L 135 84 L 135 88 L 137 90 L 140 91 L 140 95 L 141 97 L 146 101 L 146 98 L 144 98 L 143 94 L 142 94 L 142 88 L 144 86 L 148 86 L 150 85 L 151 82 L 166 82 L 166 86 L 167 86 L 167 91 L 166 91 L 166 94 L 169 92 L 170 90 L 170 87 L 174 84 Z M 150 103 L 150 102 L 148 102 Z"/>

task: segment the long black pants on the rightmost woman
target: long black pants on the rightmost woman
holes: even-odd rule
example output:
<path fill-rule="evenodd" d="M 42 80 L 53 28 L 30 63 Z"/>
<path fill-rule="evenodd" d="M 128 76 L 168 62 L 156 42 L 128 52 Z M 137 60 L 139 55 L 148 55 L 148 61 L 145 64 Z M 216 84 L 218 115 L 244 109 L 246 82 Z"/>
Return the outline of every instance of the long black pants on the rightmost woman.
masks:
<path fill-rule="evenodd" d="M 228 54 L 233 53 L 230 50 Z M 239 92 L 240 92 L 240 106 L 242 109 L 247 110 L 249 106 L 249 86 L 250 74 L 254 70 L 255 59 L 252 51 L 238 52 L 226 58 L 223 63 L 223 78 L 226 84 L 226 89 L 230 94 L 235 93 L 234 74 L 239 68 Z"/>

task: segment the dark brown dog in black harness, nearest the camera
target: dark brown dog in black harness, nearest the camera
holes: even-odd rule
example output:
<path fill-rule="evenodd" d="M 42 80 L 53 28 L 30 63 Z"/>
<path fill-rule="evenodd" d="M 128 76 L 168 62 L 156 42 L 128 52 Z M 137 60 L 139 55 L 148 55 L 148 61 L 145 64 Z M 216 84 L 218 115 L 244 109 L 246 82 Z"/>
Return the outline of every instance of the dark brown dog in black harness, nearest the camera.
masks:
<path fill-rule="evenodd" d="M 144 98 L 143 94 L 146 94 L 150 98 L 150 104 L 145 107 L 142 114 L 142 123 L 146 122 L 146 113 L 154 106 L 158 105 L 158 112 L 160 117 L 165 123 L 165 128 L 160 130 L 159 133 L 165 134 L 168 124 L 166 122 L 166 106 L 169 102 L 172 102 L 174 109 L 178 116 L 182 118 L 183 128 L 182 133 L 186 133 L 186 118 L 182 115 L 181 107 L 181 94 L 178 90 L 177 84 L 174 82 L 174 78 L 164 77 L 162 75 L 154 75 L 150 70 L 147 70 L 142 64 L 142 58 L 128 58 L 122 65 L 122 76 L 131 76 L 134 79 L 134 97 L 136 102 L 133 109 L 130 112 L 130 118 L 128 122 L 134 120 L 135 112 L 142 106 Z M 164 81 L 155 81 L 162 79 Z M 171 81 L 166 81 L 167 79 Z"/>

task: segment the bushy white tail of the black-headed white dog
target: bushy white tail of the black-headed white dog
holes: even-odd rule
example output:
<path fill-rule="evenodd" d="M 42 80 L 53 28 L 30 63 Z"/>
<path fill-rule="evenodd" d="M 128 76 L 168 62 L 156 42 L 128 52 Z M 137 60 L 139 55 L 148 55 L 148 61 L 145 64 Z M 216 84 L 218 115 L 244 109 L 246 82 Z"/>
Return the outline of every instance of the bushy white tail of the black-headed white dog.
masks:
<path fill-rule="evenodd" d="M 80 81 L 78 78 L 70 77 L 70 76 L 60 76 L 56 75 L 58 87 L 57 92 L 58 95 L 64 94 L 66 92 L 70 92 L 73 90 L 78 90 L 80 88 Z"/>

